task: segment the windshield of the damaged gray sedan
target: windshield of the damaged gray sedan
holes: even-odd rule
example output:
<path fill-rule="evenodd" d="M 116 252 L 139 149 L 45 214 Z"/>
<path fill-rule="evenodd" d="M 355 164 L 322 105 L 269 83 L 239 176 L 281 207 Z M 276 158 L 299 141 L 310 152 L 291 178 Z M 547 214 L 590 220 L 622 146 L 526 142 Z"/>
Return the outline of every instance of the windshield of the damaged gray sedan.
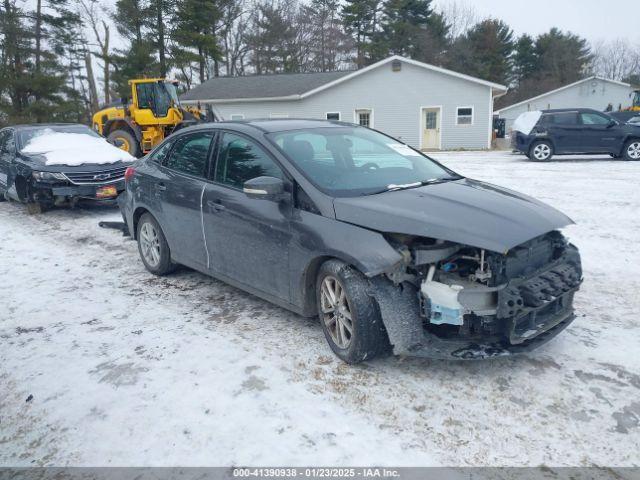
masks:
<path fill-rule="evenodd" d="M 310 128 L 268 137 L 316 187 L 336 197 L 460 178 L 407 145 L 362 127 Z"/>

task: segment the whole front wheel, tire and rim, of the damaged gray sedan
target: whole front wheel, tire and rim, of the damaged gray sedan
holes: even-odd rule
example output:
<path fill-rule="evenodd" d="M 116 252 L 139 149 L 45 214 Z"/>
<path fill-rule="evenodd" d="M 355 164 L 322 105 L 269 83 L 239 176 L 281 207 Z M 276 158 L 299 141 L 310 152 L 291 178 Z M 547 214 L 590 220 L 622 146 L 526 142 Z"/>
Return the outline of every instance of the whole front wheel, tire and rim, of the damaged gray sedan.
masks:
<path fill-rule="evenodd" d="M 353 267 L 330 260 L 316 282 L 318 314 L 331 350 L 347 363 L 370 360 L 389 350 L 389 338 L 366 278 Z"/>

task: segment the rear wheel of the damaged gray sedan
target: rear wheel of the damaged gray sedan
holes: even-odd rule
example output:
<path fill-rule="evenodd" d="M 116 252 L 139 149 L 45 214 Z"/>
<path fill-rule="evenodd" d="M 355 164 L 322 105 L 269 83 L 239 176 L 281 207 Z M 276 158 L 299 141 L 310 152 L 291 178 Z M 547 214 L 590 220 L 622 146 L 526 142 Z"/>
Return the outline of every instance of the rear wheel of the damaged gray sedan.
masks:
<path fill-rule="evenodd" d="M 154 275 L 166 275 L 174 269 L 169 244 L 160 225 L 149 213 L 138 221 L 138 251 L 147 270 Z"/>

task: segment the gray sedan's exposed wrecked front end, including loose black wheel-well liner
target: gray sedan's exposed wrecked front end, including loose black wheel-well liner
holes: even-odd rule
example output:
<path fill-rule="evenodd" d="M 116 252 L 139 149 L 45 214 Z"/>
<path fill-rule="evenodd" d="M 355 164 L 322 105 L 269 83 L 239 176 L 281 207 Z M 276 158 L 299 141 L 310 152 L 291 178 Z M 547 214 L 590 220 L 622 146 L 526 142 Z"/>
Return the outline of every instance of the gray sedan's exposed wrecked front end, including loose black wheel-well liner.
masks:
<path fill-rule="evenodd" d="M 402 261 L 370 281 L 396 355 L 476 359 L 526 352 L 574 319 L 580 255 L 559 231 L 504 253 L 386 237 Z"/>

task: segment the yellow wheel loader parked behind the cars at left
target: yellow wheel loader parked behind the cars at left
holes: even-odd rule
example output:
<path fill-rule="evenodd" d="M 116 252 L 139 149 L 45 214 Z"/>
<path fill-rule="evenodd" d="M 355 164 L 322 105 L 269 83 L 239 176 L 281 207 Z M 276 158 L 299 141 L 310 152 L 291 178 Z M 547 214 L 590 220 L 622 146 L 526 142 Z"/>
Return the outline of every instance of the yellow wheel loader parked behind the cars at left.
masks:
<path fill-rule="evenodd" d="M 135 157 L 144 155 L 165 137 L 199 123 L 196 108 L 178 101 L 177 82 L 163 78 L 129 80 L 131 98 L 103 107 L 93 115 L 93 128 Z"/>

